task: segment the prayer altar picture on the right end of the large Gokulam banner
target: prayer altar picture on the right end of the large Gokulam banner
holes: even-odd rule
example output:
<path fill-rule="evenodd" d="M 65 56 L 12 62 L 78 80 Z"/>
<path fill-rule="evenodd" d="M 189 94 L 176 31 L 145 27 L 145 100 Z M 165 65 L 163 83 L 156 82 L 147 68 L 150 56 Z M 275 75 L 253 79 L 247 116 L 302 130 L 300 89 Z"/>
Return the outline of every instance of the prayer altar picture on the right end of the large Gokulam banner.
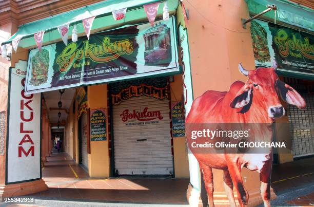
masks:
<path fill-rule="evenodd" d="M 143 35 L 145 41 L 145 65 L 168 66 L 171 62 L 170 29 L 165 24 L 156 24 Z"/>

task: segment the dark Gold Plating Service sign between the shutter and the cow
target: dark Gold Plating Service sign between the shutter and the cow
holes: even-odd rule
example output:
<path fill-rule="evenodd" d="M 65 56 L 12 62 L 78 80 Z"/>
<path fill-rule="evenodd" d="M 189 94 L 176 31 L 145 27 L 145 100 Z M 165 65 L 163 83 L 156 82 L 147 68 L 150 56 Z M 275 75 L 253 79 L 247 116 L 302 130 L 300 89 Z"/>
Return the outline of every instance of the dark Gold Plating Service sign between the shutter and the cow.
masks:
<path fill-rule="evenodd" d="M 185 137 L 185 118 L 181 101 L 171 102 L 172 137 Z"/>

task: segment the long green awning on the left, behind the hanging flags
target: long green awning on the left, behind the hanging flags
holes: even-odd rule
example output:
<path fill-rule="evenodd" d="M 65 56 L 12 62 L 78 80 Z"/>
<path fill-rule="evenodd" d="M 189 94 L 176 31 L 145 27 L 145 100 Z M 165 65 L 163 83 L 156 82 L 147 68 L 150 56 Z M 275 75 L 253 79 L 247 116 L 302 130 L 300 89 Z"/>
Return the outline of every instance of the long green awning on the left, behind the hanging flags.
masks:
<path fill-rule="evenodd" d="M 96 16 L 92 25 L 91 33 L 101 30 L 112 29 L 136 22 L 147 22 L 147 16 L 144 11 L 143 5 L 154 2 L 161 2 L 157 17 L 163 14 L 164 1 L 156 0 L 107 0 L 100 3 L 88 5 L 72 11 L 64 12 L 42 20 L 34 21 L 24 25 L 20 25 L 15 34 L 4 43 L 11 43 L 15 38 L 22 37 L 18 47 L 32 48 L 36 45 L 34 40 L 34 33 L 45 31 L 43 45 L 51 44 L 54 42 L 62 41 L 61 35 L 57 30 L 58 26 L 70 23 L 69 39 L 74 25 L 77 25 L 78 36 L 85 35 L 82 20 L 85 18 Z M 173 14 L 178 8 L 178 0 L 167 0 L 169 13 Z M 114 21 L 112 11 L 127 8 L 126 16 L 123 20 Z M 156 17 L 156 19 L 157 19 Z"/>

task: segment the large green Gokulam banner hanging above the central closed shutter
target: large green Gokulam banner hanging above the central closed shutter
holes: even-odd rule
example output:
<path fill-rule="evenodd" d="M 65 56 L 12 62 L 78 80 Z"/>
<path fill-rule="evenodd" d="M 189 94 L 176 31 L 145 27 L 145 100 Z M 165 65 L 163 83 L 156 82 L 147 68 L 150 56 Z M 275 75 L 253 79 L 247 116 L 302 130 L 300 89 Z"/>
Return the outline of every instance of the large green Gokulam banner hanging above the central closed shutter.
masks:
<path fill-rule="evenodd" d="M 179 73 L 174 18 L 30 51 L 26 94 Z"/>

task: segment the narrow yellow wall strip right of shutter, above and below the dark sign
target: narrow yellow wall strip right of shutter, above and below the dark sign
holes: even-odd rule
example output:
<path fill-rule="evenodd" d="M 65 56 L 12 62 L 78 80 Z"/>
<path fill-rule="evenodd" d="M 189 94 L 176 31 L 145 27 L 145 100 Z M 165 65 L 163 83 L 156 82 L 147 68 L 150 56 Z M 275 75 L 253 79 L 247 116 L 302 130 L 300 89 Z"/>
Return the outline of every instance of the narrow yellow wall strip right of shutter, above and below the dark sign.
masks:
<path fill-rule="evenodd" d="M 171 102 L 181 101 L 183 95 L 182 75 L 174 76 L 170 83 Z M 189 161 L 185 137 L 173 137 L 174 176 L 175 178 L 189 178 Z"/>

